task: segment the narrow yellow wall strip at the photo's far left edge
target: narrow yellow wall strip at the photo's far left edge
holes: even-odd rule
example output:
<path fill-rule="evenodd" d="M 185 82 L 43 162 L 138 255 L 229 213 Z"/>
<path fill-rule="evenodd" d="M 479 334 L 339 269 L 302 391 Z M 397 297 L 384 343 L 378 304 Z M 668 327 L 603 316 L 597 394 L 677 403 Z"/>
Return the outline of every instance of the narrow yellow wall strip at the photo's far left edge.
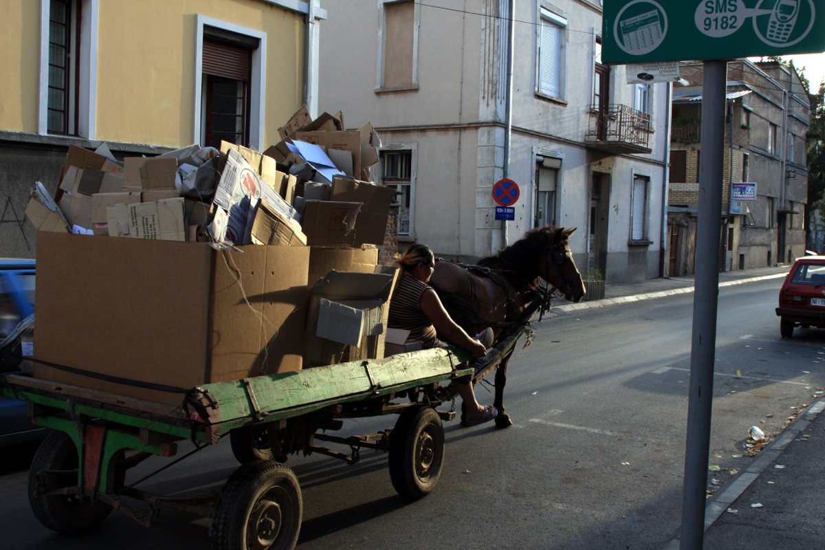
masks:
<path fill-rule="evenodd" d="M 40 2 L 0 0 L 0 129 L 37 132 Z"/>

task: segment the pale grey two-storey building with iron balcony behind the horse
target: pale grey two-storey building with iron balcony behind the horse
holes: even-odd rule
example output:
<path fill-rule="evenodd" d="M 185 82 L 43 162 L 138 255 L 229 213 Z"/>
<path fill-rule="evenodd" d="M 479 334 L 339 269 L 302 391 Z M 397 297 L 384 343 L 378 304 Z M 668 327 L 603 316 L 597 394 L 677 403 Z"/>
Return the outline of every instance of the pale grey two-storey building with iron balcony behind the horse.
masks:
<path fill-rule="evenodd" d="M 601 63 L 601 2 L 512 3 L 327 0 L 319 110 L 378 130 L 399 245 L 474 261 L 554 223 L 577 228 L 582 273 L 658 276 L 669 86 Z M 495 215 L 505 177 L 512 221 Z"/>

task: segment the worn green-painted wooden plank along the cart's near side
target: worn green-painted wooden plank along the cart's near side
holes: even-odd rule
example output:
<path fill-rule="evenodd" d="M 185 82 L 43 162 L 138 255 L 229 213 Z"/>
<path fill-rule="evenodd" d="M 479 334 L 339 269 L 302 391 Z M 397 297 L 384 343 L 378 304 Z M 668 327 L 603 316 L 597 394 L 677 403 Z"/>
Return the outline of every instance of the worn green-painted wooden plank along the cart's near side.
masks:
<path fill-rule="evenodd" d="M 452 374 L 455 366 L 469 359 L 464 350 L 436 348 L 393 355 L 383 360 L 361 360 L 297 372 L 270 374 L 243 381 L 206 384 L 218 401 L 222 422 L 252 416 L 252 391 L 261 411 L 271 413 L 312 403 L 343 400 L 348 396 L 370 397 L 375 389 L 396 388 L 417 380 Z M 290 415 L 295 416 L 295 415 Z"/>

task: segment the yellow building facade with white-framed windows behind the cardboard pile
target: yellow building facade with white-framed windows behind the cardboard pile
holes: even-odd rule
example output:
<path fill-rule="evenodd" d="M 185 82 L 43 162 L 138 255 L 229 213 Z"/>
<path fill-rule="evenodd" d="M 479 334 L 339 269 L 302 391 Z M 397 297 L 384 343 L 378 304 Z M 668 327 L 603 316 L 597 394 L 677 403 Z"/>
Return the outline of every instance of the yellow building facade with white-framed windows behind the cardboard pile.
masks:
<path fill-rule="evenodd" d="M 34 257 L 35 181 L 58 185 L 68 146 L 117 158 L 221 139 L 264 150 L 306 103 L 318 21 L 299 0 L 3 2 L 0 256 Z"/>

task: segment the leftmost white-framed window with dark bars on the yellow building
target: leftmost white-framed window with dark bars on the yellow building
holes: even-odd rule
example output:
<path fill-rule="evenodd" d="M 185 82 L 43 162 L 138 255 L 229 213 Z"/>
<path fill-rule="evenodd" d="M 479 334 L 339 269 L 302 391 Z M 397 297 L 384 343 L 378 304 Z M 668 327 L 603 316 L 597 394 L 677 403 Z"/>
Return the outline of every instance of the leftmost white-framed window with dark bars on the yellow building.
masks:
<path fill-rule="evenodd" d="M 37 133 L 95 139 L 99 0 L 40 0 Z"/>

